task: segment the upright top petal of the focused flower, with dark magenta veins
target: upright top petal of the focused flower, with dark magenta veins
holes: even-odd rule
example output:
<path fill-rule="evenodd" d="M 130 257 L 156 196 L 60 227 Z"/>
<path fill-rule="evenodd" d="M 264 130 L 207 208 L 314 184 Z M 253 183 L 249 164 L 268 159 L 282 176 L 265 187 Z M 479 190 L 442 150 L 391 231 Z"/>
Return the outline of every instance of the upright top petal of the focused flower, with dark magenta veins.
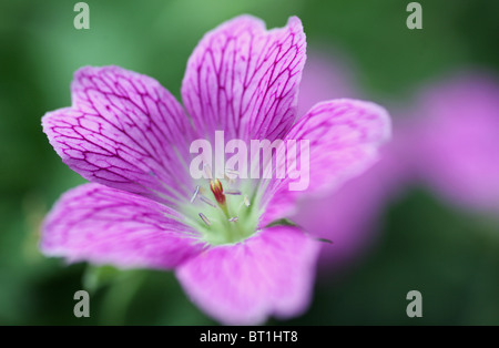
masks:
<path fill-rule="evenodd" d="M 191 55 L 182 99 L 200 132 L 230 139 L 278 139 L 295 120 L 305 63 L 298 18 L 281 29 L 241 16 L 206 33 Z"/>

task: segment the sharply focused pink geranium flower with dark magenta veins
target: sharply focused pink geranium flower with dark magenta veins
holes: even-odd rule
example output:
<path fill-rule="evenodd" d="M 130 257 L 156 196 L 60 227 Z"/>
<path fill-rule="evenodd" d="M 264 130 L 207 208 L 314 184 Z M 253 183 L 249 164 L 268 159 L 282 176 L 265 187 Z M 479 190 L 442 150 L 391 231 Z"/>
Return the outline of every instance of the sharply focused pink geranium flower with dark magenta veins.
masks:
<path fill-rule="evenodd" d="M 185 111 L 151 78 L 118 66 L 79 70 L 72 106 L 42 124 L 62 161 L 92 183 L 54 205 L 42 252 L 174 268 L 191 299 L 225 324 L 305 310 L 319 242 L 296 226 L 268 224 L 299 196 L 360 173 L 389 136 L 385 110 L 355 100 L 319 103 L 294 124 L 305 45 L 295 17 L 269 31 L 249 16 L 223 23 L 189 60 Z M 309 140 L 308 188 L 291 192 L 288 180 L 277 178 L 194 180 L 190 144 L 213 141 L 220 130 L 227 140 Z"/>

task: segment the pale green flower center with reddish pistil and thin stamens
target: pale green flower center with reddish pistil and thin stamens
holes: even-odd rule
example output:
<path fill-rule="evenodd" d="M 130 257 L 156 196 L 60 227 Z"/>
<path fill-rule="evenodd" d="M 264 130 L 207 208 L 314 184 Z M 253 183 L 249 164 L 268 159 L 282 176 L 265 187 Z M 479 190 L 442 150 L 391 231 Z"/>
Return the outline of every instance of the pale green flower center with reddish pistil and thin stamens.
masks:
<path fill-rule="evenodd" d="M 211 173 L 207 176 L 212 177 Z M 190 204 L 183 207 L 187 223 L 211 245 L 234 244 L 251 237 L 259 216 L 259 198 L 252 184 L 251 180 L 227 175 L 222 180 L 200 180 Z"/>

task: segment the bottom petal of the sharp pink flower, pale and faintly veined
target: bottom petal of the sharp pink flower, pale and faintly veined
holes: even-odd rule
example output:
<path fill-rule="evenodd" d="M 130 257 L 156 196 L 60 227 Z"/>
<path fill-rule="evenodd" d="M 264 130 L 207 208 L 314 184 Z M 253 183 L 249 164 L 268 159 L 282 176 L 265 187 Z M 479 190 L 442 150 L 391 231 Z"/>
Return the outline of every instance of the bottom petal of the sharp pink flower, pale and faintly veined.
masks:
<path fill-rule="evenodd" d="M 319 243 L 295 227 L 261 231 L 236 245 L 213 247 L 187 260 L 176 275 L 192 300 L 231 325 L 291 317 L 310 299 Z"/>

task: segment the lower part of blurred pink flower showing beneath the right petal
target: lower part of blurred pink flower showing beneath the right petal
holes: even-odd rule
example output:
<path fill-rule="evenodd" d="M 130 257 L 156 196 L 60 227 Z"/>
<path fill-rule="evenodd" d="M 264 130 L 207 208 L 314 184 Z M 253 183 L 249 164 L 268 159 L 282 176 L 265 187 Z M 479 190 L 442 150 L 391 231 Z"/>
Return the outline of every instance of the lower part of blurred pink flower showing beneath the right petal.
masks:
<path fill-rule="evenodd" d="M 378 239 L 380 217 L 389 202 L 408 184 L 409 167 L 391 143 L 397 141 L 381 149 L 380 160 L 373 167 L 333 194 L 303 199 L 292 217 L 304 229 L 333 242 L 323 245 L 323 272 L 347 268 L 361 258 Z"/>

